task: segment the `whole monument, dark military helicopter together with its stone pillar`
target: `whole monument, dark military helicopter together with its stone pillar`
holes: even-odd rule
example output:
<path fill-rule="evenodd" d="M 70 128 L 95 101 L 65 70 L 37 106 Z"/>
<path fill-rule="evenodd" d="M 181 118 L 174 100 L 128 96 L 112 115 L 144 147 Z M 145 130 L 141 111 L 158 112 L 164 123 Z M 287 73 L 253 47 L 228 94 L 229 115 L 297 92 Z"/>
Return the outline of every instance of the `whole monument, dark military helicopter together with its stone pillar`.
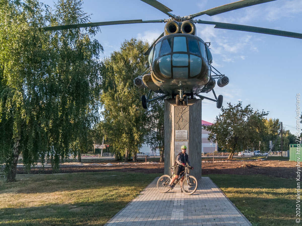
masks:
<path fill-rule="evenodd" d="M 163 29 L 164 32 L 151 44 L 145 53 L 145 55 L 149 55 L 149 68 L 141 76 L 134 79 L 134 85 L 142 89 L 145 87 L 149 89 L 149 93 L 141 97 L 142 105 L 145 109 L 148 108 L 149 102 L 168 96 L 172 97 L 172 99 L 165 100 L 165 174 L 169 173 L 169 166 L 174 161 L 176 143 L 185 142 L 190 144 L 189 148 L 192 150 L 191 153 L 189 152 L 190 159 L 191 161 L 194 159 L 196 165 L 193 162 L 192 164 L 195 166 L 200 164 L 196 171 L 200 170 L 201 172 L 201 137 L 198 135 L 201 135 L 201 100 L 214 101 L 216 102 L 216 107 L 221 108 L 223 96 L 218 95 L 217 97 L 214 87 L 216 84 L 219 87 L 226 86 L 229 83 L 229 78 L 212 66 L 213 58 L 209 49 L 210 43 L 206 43 L 196 36 L 195 24 L 212 24 L 215 25 L 214 28 L 298 39 L 302 39 L 302 34 L 195 19 L 201 15 L 214 16 L 276 0 L 241 0 L 186 16 L 174 15 L 170 8 L 156 0 L 140 1 L 153 6 L 169 18 L 148 21 L 139 19 L 67 24 L 43 27 L 42 29 L 44 31 L 56 31 L 114 24 L 166 23 Z M 158 93 L 160 96 L 150 99 L 152 92 Z M 201 95 L 208 92 L 212 92 L 214 98 Z M 198 96 L 200 99 L 196 99 L 194 96 Z M 184 131 L 186 131 L 186 135 L 183 133 Z M 193 175 L 200 178 L 201 173 L 199 176 Z"/>

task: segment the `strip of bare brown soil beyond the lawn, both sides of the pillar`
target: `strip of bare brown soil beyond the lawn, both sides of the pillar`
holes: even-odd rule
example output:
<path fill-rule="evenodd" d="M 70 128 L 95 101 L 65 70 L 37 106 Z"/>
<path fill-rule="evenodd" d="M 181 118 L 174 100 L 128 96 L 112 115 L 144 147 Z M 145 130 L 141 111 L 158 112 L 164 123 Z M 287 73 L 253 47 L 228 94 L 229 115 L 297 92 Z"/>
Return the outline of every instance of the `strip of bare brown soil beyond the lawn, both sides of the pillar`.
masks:
<path fill-rule="evenodd" d="M 99 172 L 99 171 L 121 171 L 137 173 L 164 173 L 164 163 L 142 164 L 128 163 L 117 164 L 111 162 L 112 166 L 100 164 L 79 165 L 79 166 L 60 166 L 59 173 L 76 173 L 76 172 Z M 266 175 L 281 178 L 293 179 L 296 176 L 296 162 L 265 160 L 265 161 L 231 161 L 231 162 L 203 162 L 202 174 L 233 174 L 233 175 Z M 18 167 L 18 174 L 27 173 L 22 167 Z M 32 168 L 30 173 L 54 173 L 52 168 L 40 167 Z"/>

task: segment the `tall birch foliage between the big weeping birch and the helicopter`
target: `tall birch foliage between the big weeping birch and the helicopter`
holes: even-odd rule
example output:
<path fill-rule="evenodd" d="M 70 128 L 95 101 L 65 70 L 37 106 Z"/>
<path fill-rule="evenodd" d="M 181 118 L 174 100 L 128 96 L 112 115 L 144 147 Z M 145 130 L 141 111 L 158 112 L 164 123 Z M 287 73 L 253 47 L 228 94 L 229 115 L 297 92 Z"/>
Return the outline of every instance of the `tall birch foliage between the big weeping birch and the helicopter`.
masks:
<path fill-rule="evenodd" d="M 134 86 L 133 80 L 149 66 L 147 56 L 143 55 L 148 47 L 142 40 L 125 40 L 101 67 L 101 128 L 116 157 L 123 156 L 125 161 L 131 153 L 136 161 L 146 133 L 146 110 L 140 103 L 144 90 Z"/>

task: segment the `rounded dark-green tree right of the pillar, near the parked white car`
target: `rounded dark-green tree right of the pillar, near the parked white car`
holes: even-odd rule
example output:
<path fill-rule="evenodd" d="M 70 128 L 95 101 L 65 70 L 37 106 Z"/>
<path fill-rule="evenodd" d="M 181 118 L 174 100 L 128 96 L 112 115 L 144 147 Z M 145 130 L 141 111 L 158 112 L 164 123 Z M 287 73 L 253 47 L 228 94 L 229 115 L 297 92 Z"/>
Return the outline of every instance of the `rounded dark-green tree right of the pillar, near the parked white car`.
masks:
<path fill-rule="evenodd" d="M 263 119 L 268 112 L 254 111 L 250 105 L 243 107 L 242 102 L 227 105 L 221 108 L 214 123 L 204 129 L 210 131 L 208 140 L 217 141 L 221 148 L 230 152 L 230 159 L 235 151 L 259 145 L 265 132 Z"/>

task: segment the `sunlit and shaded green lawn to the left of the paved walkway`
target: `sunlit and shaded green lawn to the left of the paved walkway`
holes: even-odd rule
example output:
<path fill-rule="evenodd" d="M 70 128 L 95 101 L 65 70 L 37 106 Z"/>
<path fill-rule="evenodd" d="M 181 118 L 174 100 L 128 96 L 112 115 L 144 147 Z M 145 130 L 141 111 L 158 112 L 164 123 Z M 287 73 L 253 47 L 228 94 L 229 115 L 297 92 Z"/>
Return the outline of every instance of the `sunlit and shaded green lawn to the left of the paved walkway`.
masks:
<path fill-rule="evenodd" d="M 104 225 L 161 174 L 88 172 L 0 180 L 0 225 Z"/>

